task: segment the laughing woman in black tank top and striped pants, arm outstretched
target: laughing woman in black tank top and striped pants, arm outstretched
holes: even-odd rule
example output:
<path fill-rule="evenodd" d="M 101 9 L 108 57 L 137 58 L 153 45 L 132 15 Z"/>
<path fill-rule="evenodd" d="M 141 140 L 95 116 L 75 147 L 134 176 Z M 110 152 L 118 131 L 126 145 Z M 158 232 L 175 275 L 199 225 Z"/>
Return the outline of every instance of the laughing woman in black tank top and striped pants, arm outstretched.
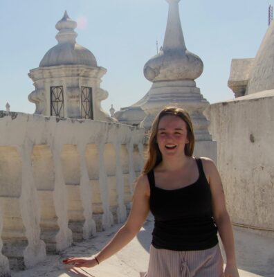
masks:
<path fill-rule="evenodd" d="M 146 277 L 239 277 L 219 173 L 212 160 L 193 157 L 193 150 L 188 112 L 163 109 L 152 125 L 149 157 L 136 181 L 127 222 L 97 255 L 64 263 L 100 264 L 134 238 L 151 211 L 155 223 Z M 226 251 L 224 272 L 217 232 Z"/>

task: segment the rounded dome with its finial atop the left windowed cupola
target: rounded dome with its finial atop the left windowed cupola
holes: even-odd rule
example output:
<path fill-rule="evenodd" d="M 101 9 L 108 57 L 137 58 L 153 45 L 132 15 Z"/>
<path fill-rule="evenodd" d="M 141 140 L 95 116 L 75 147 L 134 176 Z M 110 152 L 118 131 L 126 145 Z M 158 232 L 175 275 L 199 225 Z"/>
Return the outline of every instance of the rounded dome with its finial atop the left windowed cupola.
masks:
<path fill-rule="evenodd" d="M 56 66 L 60 64 L 97 66 L 93 53 L 76 43 L 77 33 L 75 33 L 74 29 L 77 27 L 77 23 L 69 18 L 67 12 L 64 13 L 64 17 L 57 22 L 55 27 L 59 30 L 56 35 L 58 44 L 44 55 L 39 66 Z"/>

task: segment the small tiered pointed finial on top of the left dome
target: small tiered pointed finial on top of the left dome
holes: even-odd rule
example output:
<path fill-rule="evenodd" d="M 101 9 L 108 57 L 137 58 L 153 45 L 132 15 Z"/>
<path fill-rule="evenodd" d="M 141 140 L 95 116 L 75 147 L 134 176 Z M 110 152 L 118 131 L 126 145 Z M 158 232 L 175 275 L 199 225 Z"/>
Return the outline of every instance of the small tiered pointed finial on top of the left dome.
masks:
<path fill-rule="evenodd" d="M 74 29 L 77 27 L 77 23 L 69 17 L 66 10 L 64 12 L 63 18 L 57 22 L 55 27 L 57 30 L 59 30 L 59 33 L 56 35 L 58 43 L 76 43 L 75 39 L 77 37 L 77 33 L 75 33 Z"/>

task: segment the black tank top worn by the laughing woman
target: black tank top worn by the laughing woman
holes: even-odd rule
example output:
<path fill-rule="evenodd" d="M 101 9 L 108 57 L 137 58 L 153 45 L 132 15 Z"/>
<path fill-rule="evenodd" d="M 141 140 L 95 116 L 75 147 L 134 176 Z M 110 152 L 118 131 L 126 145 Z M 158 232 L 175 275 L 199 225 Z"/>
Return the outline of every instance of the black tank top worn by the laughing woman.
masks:
<path fill-rule="evenodd" d="M 155 186 L 154 171 L 147 174 L 150 211 L 154 215 L 152 245 L 175 251 L 204 250 L 218 243 L 212 216 L 211 192 L 201 159 L 196 159 L 199 178 L 176 190 Z"/>

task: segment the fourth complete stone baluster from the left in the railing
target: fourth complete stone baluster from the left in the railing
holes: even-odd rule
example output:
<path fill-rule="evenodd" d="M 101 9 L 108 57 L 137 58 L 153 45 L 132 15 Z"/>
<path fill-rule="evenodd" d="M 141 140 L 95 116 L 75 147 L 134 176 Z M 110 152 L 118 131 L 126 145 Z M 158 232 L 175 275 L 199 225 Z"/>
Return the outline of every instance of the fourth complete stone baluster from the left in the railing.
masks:
<path fill-rule="evenodd" d="M 107 181 L 107 172 L 104 166 L 104 142 L 97 143 L 99 152 L 99 184 L 100 184 L 100 197 L 102 201 L 102 227 L 104 230 L 108 229 L 113 224 L 113 215 L 109 210 L 109 185 Z"/>

